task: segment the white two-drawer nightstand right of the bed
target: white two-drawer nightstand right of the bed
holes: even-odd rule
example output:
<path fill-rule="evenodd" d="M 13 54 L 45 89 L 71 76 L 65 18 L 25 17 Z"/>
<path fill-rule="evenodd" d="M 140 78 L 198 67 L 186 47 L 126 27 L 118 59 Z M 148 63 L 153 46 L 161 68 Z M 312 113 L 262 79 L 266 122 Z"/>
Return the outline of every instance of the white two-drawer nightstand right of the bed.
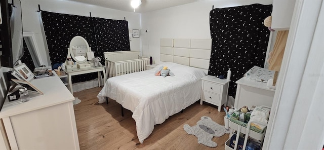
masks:
<path fill-rule="evenodd" d="M 215 78 L 215 76 L 206 76 L 201 78 L 201 98 L 200 104 L 203 101 L 218 106 L 218 111 L 226 103 L 228 84 L 230 80 Z"/>

